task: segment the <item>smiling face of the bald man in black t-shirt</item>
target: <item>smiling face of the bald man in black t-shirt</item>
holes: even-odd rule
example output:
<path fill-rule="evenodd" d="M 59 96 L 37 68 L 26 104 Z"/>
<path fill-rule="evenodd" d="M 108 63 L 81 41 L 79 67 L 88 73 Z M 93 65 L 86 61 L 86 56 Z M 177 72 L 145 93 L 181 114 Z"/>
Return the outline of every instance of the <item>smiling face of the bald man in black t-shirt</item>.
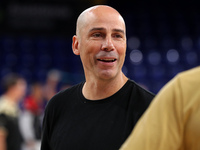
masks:
<path fill-rule="evenodd" d="M 94 10 L 77 37 L 86 77 L 112 79 L 121 72 L 126 53 L 125 24 L 113 10 Z"/>

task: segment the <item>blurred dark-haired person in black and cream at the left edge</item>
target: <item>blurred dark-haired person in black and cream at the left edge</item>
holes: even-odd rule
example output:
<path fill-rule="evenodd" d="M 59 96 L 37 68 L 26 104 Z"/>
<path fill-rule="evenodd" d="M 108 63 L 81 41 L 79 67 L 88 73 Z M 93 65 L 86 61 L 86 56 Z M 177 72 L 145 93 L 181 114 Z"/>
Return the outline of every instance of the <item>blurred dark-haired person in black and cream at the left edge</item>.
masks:
<path fill-rule="evenodd" d="M 1 81 L 0 150 L 21 150 L 23 138 L 19 128 L 19 102 L 26 94 L 27 83 L 18 74 L 8 74 Z"/>

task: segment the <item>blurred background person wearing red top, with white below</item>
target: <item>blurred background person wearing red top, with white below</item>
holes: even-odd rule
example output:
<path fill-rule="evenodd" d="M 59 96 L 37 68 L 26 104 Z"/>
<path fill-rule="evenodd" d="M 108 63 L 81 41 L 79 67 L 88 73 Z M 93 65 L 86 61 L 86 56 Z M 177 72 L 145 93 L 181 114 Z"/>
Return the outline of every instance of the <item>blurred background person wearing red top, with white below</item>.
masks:
<path fill-rule="evenodd" d="M 30 93 L 22 103 L 20 127 L 25 140 L 24 150 L 39 150 L 41 127 L 44 112 L 43 86 L 34 82 L 30 86 Z"/>

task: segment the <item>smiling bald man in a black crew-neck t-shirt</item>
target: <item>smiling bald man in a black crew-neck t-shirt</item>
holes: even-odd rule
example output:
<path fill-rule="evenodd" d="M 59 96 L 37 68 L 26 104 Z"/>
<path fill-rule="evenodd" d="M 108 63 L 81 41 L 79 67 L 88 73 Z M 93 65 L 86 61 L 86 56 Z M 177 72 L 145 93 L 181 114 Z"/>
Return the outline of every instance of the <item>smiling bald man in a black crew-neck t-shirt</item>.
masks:
<path fill-rule="evenodd" d="M 119 149 L 154 97 L 122 72 L 122 16 L 104 5 L 86 9 L 78 17 L 72 48 L 80 55 L 86 81 L 49 101 L 41 149 Z"/>

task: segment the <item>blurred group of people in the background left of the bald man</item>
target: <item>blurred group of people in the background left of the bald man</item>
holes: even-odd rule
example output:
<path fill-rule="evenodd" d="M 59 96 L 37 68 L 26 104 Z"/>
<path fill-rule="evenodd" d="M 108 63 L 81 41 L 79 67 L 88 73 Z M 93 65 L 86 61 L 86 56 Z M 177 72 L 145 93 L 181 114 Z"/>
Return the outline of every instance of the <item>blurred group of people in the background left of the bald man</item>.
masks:
<path fill-rule="evenodd" d="M 39 150 L 45 106 L 53 95 L 70 87 L 62 73 L 50 70 L 46 80 L 28 83 L 16 73 L 1 79 L 0 150 Z"/>

